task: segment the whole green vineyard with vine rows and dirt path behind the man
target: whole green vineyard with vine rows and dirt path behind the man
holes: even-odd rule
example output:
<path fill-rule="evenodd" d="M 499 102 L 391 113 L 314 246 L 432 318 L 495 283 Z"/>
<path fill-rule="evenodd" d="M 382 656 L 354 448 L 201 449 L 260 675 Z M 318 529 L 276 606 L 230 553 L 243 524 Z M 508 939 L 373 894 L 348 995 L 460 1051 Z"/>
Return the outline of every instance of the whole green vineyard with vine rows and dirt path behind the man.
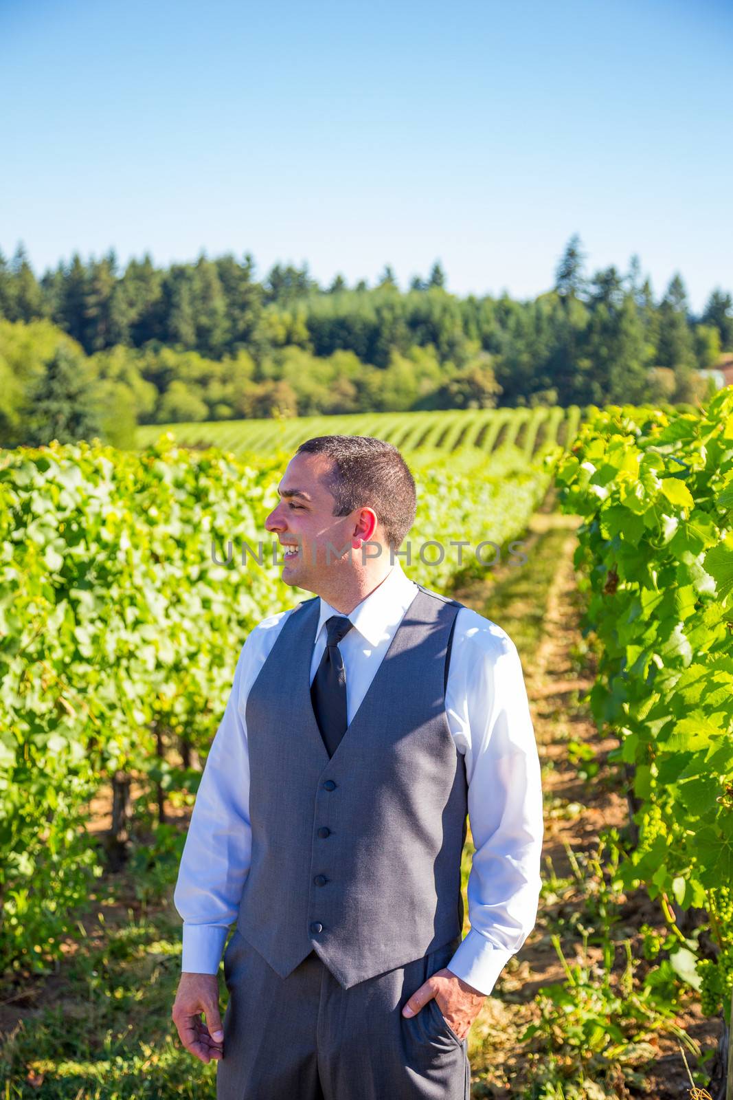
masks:
<path fill-rule="evenodd" d="M 309 595 L 237 551 L 270 544 L 289 457 L 331 432 L 404 452 L 403 568 L 503 626 L 526 672 L 543 891 L 469 1034 L 471 1094 L 724 1100 L 730 387 L 695 414 L 216 421 L 0 452 L 0 1096 L 213 1094 L 169 1020 L 173 886 L 241 646 Z M 462 560 L 440 553 L 456 539 Z M 469 831 L 464 890 L 471 851 Z"/>

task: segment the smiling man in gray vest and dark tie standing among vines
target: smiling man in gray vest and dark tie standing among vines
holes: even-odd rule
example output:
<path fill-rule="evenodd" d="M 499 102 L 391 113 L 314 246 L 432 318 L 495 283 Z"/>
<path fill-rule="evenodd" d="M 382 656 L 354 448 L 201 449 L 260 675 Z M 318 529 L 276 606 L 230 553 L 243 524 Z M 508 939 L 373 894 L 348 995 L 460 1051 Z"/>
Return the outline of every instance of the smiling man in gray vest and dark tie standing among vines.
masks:
<path fill-rule="evenodd" d="M 404 574 L 415 486 L 397 448 L 310 439 L 278 493 L 282 578 L 315 596 L 240 652 L 174 895 L 173 1018 L 187 1049 L 220 1059 L 218 1100 L 467 1100 L 466 1035 L 540 894 L 520 659 L 495 623 Z"/>

